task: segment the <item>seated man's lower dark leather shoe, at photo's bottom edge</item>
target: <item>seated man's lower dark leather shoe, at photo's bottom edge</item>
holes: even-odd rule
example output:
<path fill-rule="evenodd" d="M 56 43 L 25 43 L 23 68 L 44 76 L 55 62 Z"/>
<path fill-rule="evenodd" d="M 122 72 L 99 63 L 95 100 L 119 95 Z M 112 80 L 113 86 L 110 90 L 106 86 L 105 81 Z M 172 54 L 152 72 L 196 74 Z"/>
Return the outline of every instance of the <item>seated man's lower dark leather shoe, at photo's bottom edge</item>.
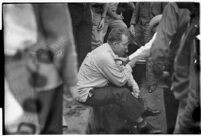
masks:
<path fill-rule="evenodd" d="M 143 127 L 138 127 L 138 134 L 161 134 L 161 130 L 154 128 L 151 124 L 148 122 L 145 122 L 145 125 Z"/>

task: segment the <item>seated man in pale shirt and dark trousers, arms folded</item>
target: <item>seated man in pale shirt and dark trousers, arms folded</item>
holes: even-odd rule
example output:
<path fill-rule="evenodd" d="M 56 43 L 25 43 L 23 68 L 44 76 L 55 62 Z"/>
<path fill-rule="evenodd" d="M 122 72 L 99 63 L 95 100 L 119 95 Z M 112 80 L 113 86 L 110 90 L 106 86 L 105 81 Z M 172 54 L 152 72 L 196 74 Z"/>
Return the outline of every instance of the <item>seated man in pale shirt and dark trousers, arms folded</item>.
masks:
<path fill-rule="evenodd" d="M 76 100 L 92 107 L 117 104 L 126 119 L 137 126 L 137 133 L 161 133 L 143 119 L 145 114 L 154 113 L 145 110 L 138 100 L 140 90 L 132 76 L 135 61 L 126 65 L 116 61 L 125 57 L 128 44 L 129 32 L 124 28 L 113 29 L 107 43 L 88 53 L 84 59 L 78 83 L 71 93 Z"/>

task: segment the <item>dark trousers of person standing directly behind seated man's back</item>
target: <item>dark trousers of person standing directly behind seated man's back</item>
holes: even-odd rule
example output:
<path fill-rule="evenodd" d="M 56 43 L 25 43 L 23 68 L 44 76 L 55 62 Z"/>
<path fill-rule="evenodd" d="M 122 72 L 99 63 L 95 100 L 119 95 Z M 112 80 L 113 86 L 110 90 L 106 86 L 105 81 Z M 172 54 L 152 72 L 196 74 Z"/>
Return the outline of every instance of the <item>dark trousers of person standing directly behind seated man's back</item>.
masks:
<path fill-rule="evenodd" d="M 78 65 L 80 66 L 87 53 L 91 51 L 91 11 L 89 4 L 70 3 L 68 7 L 71 14 Z"/>

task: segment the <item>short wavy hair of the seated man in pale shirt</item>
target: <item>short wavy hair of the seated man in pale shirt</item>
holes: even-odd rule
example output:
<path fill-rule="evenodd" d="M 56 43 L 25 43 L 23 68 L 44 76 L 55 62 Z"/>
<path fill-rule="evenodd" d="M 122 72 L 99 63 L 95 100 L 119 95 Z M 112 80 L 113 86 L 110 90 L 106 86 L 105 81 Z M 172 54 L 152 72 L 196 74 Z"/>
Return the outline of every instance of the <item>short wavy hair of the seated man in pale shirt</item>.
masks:
<path fill-rule="evenodd" d="M 109 36 L 107 38 L 107 42 L 109 44 L 112 44 L 114 42 L 121 42 L 122 35 L 126 35 L 126 36 L 128 36 L 128 39 L 130 39 L 130 33 L 126 28 L 112 29 L 112 31 L 109 33 Z"/>

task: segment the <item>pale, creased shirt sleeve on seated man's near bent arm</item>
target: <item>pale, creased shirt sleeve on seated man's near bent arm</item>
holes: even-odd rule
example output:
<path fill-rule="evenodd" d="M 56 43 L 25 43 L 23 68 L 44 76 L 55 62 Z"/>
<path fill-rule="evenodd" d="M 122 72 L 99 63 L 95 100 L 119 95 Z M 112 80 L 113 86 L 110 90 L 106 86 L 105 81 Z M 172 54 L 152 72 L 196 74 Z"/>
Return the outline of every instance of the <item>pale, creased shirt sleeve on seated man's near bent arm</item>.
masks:
<path fill-rule="evenodd" d="M 100 58 L 97 61 L 97 66 L 104 77 L 117 86 L 125 85 L 132 74 L 132 69 L 129 65 L 118 65 L 113 59 L 107 59 L 106 57 Z"/>

